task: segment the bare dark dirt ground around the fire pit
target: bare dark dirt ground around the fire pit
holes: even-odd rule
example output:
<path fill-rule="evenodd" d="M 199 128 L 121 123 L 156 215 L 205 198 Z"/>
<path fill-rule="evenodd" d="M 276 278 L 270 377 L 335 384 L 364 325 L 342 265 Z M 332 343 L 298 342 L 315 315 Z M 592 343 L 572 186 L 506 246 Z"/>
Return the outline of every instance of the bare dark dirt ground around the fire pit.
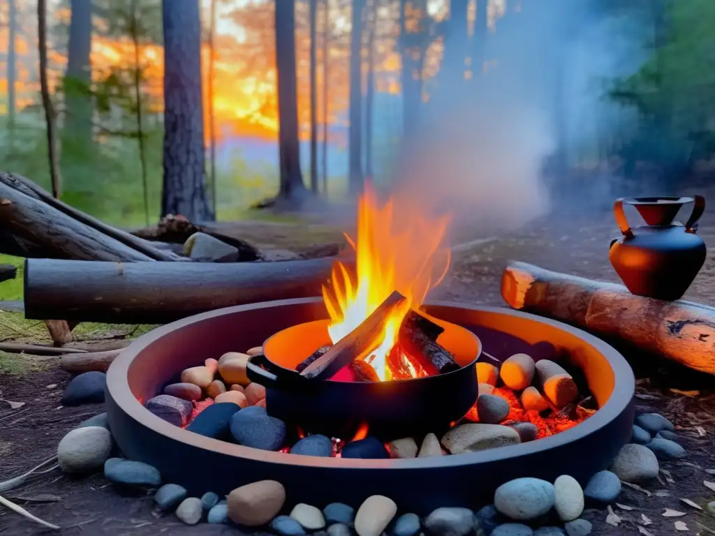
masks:
<path fill-rule="evenodd" d="M 608 242 L 616 228 L 610 214 L 568 222 L 544 221 L 520 232 L 473 244 L 455 253 L 453 269 L 435 299 L 502 306 L 499 294 L 501 272 L 510 259 L 532 262 L 542 267 L 594 279 L 616 280 L 608 264 Z M 295 231 L 289 226 L 266 226 L 268 231 L 251 229 L 256 242 L 290 247 Z M 568 229 L 564 231 L 563 229 Z M 272 233 L 272 234 L 271 234 Z M 709 249 L 715 249 L 715 217 L 704 222 L 700 231 Z M 277 235 L 277 236 L 276 236 Z M 333 240 L 335 229 L 325 232 L 317 242 Z M 474 233 L 471 239 L 481 238 Z M 301 242 L 305 244 L 305 239 Z M 688 299 L 715 305 L 715 256 L 692 285 Z M 1 313 L 0 313 L 1 314 Z M 0 319 L 1 320 L 1 319 Z M 37 333 L 37 331 L 36 331 Z M 110 337 L 122 338 L 132 333 L 118 328 Z M 38 334 L 39 337 L 39 334 Z M 105 333 L 86 334 L 88 339 L 102 339 Z M 18 334 L 19 339 L 27 339 Z M 36 337 L 35 337 L 36 338 Z M 593 523 L 598 536 L 665 536 L 681 533 L 675 522 L 684 522 L 685 535 L 715 534 L 715 518 L 686 505 L 681 499 L 705 508 L 715 500 L 715 491 L 704 481 L 715 482 L 715 382 L 658 359 L 643 359 L 626 354 L 638 377 L 638 409 L 661 412 L 669 417 L 683 438 L 688 456 L 680 462 L 661 462 L 659 482 L 647 489 L 624 487 L 613 506 L 614 515 L 604 509 L 587 510 L 583 517 Z M 15 358 L 23 359 L 23 358 Z M 102 411 L 101 405 L 65 408 L 59 404 L 61 392 L 70 376 L 55 363 L 56 358 L 41 362 L 21 362 L 0 372 L 0 399 L 24 402 L 11 409 L 0 402 L 0 481 L 20 475 L 56 452 L 61 437 L 72 427 Z M 152 512 L 149 497 L 122 497 L 101 475 L 73 479 L 54 470 L 26 485 L 6 493 L 22 507 L 44 520 L 62 527 L 59 534 L 74 535 L 220 535 L 236 534 L 232 527 L 198 525 L 187 527 L 173 515 L 159 517 Z M 681 517 L 664 517 L 666 508 L 684 512 Z M 606 522 L 607 517 L 611 524 Z M 616 522 L 616 517 L 618 522 Z M 613 526 L 616 524 L 617 526 Z M 0 534 L 39 535 L 52 533 L 0 508 Z"/>

